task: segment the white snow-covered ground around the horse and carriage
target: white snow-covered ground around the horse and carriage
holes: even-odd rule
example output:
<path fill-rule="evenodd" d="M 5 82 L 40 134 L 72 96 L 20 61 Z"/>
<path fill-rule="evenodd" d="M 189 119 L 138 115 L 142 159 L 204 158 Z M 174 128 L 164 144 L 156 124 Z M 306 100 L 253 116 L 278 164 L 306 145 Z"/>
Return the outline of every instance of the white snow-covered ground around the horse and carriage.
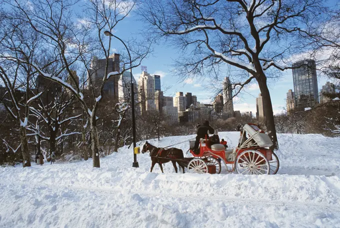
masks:
<path fill-rule="evenodd" d="M 237 132 L 219 136 L 237 144 Z M 0 168 L 0 228 L 340 228 L 340 140 L 278 140 L 277 175 L 175 174 L 170 163 L 149 173 L 148 154 L 131 168 L 127 147 L 99 169 L 91 160 Z M 188 143 L 176 147 L 185 153 Z"/>

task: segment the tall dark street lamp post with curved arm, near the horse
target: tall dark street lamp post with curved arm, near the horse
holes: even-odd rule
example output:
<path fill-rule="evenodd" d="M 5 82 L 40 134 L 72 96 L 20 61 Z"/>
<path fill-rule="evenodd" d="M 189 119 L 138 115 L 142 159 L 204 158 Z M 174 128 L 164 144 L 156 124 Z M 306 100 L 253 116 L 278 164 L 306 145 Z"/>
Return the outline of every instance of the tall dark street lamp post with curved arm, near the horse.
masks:
<path fill-rule="evenodd" d="M 137 155 L 134 153 L 134 148 L 136 147 L 136 125 L 135 125 L 135 115 L 134 115 L 134 87 L 133 87 L 133 81 L 132 81 L 132 60 L 131 60 L 131 55 L 130 51 L 128 50 L 126 44 L 124 41 L 122 41 L 119 37 L 113 35 L 109 31 L 104 31 L 104 34 L 106 36 L 113 36 L 114 38 L 118 39 L 126 48 L 128 57 L 130 58 L 130 77 L 131 77 L 131 108 L 132 108 L 132 137 L 133 137 L 133 163 L 132 167 L 138 168 L 138 162 L 137 162 Z"/>

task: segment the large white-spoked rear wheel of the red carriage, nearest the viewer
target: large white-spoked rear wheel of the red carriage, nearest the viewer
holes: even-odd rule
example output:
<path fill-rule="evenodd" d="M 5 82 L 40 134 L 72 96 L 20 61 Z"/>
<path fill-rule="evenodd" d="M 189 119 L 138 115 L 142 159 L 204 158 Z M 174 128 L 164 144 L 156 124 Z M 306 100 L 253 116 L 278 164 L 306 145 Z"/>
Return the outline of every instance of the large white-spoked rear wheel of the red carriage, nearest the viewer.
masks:
<path fill-rule="evenodd" d="M 235 161 L 238 174 L 269 174 L 269 163 L 264 155 L 258 151 L 244 151 Z"/>

